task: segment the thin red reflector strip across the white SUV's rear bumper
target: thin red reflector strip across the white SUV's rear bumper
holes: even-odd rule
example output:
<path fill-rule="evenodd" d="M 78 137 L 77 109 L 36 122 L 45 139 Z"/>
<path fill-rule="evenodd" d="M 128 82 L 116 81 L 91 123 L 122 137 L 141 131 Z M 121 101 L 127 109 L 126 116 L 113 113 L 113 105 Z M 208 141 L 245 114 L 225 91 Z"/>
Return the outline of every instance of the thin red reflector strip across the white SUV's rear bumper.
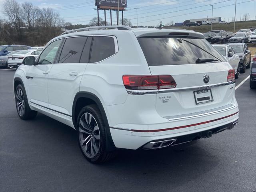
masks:
<path fill-rule="evenodd" d="M 222 120 L 222 119 L 231 117 L 231 116 L 233 116 L 235 114 L 238 114 L 238 112 L 235 112 L 234 114 L 231 114 L 231 115 L 228 115 L 228 116 L 225 116 L 225 117 L 221 117 L 221 118 L 218 118 L 218 119 L 204 121 L 204 122 L 190 124 L 190 125 L 179 126 L 179 127 L 172 127 L 172 128 L 166 128 L 166 129 L 156 129 L 156 130 L 136 130 L 136 129 L 132 129 L 130 131 L 133 131 L 133 132 L 147 132 L 148 133 L 148 132 L 159 132 L 159 131 L 169 131 L 169 130 L 174 130 L 174 129 L 181 129 L 181 128 L 192 127 L 192 126 L 197 126 L 197 125 L 202 125 L 202 124 L 206 124 L 206 123 Z"/>

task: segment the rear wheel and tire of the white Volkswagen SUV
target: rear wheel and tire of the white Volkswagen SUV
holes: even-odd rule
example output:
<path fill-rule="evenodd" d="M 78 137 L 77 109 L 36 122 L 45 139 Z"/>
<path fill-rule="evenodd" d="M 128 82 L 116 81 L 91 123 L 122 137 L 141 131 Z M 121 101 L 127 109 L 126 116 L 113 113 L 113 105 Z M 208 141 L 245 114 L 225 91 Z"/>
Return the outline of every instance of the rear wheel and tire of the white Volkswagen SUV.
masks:
<path fill-rule="evenodd" d="M 106 150 L 106 125 L 97 105 L 83 107 L 76 122 L 79 148 L 92 163 L 102 163 L 116 156 L 116 151 Z"/>

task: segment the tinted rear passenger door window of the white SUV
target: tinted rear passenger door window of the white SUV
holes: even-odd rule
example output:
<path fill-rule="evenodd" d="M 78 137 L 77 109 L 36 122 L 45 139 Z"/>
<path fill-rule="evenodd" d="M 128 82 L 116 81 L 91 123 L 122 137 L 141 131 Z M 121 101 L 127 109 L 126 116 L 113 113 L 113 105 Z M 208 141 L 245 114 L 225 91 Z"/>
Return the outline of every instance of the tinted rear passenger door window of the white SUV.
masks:
<path fill-rule="evenodd" d="M 79 63 L 87 37 L 67 38 L 60 54 L 59 63 Z"/>

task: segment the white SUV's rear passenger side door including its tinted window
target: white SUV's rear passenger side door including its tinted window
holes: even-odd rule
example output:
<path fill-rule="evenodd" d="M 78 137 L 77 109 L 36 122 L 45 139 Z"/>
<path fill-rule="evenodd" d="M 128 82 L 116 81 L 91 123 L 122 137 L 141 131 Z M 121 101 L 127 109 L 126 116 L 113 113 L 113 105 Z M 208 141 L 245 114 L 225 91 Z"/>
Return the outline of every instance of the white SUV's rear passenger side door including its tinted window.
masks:
<path fill-rule="evenodd" d="M 74 96 L 89 61 L 92 36 L 66 38 L 48 77 L 49 108 L 72 115 Z"/>

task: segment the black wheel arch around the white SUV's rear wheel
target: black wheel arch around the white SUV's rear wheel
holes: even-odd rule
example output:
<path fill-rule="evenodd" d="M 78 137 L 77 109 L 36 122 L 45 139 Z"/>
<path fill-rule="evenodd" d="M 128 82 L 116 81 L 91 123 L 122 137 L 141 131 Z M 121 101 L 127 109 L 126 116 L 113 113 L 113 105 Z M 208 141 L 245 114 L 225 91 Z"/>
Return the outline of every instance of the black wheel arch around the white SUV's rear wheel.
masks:
<path fill-rule="evenodd" d="M 84 103 L 83 105 L 81 105 L 81 102 Z M 112 136 L 110 133 L 110 128 L 109 128 L 109 124 L 108 124 L 108 118 L 106 116 L 104 107 L 102 105 L 102 102 L 100 101 L 100 99 L 98 98 L 98 96 L 96 96 L 93 93 L 90 92 L 85 92 L 85 91 L 81 91 L 78 92 L 74 98 L 74 102 L 73 102 L 73 106 L 72 106 L 72 122 L 74 124 L 74 127 L 76 128 L 76 119 L 78 117 L 78 113 L 79 113 L 79 109 L 86 106 L 87 104 L 96 104 L 100 110 L 100 113 L 102 115 L 104 124 L 105 124 L 105 129 L 106 129 L 106 134 L 107 134 L 107 138 L 106 138 L 106 149 L 108 151 L 112 151 L 115 150 L 115 145 L 114 142 L 112 140 Z M 78 111 L 79 110 L 79 111 Z"/>

